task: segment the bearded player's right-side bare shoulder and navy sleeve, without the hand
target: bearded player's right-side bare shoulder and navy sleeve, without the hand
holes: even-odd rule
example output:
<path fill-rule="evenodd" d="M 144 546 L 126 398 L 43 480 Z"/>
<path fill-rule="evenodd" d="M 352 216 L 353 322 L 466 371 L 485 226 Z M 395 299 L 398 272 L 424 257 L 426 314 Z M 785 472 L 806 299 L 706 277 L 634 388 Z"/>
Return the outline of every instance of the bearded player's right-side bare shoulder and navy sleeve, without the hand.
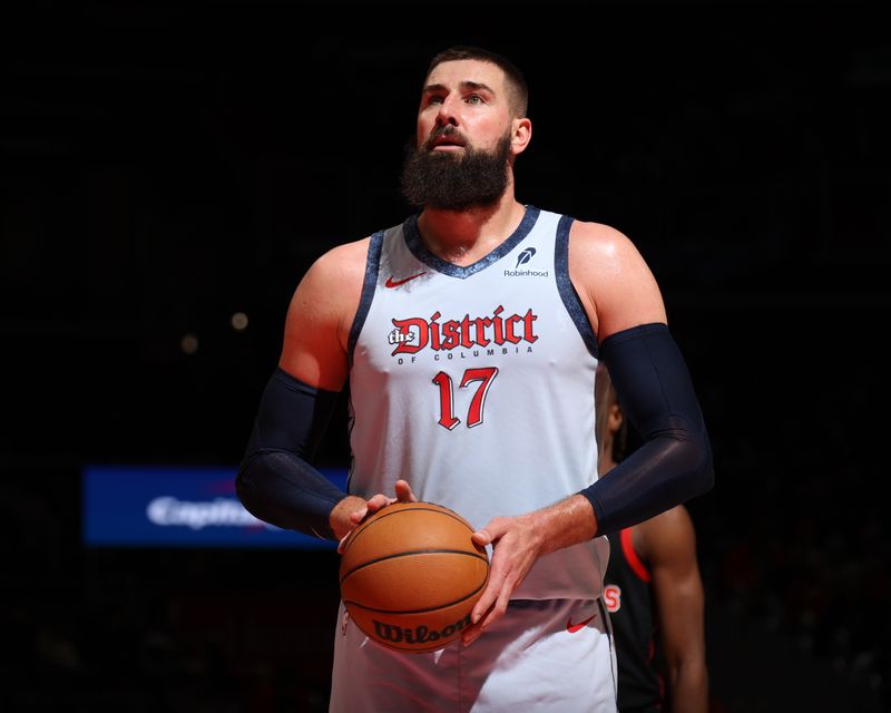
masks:
<path fill-rule="evenodd" d="M 631 242 L 604 225 L 574 225 L 570 277 L 600 344 L 623 411 L 644 443 L 580 495 L 604 535 L 707 491 L 712 450 L 656 280 Z"/>

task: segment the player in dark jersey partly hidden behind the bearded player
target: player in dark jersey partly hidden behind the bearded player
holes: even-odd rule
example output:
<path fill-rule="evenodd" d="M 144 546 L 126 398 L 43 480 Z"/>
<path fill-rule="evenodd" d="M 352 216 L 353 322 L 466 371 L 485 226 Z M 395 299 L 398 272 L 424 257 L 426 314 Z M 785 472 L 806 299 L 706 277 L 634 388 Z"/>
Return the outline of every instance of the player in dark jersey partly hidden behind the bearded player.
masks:
<path fill-rule="evenodd" d="M 596 401 L 604 476 L 633 446 L 603 363 Z M 705 597 L 689 512 L 677 505 L 609 539 L 604 599 L 616 641 L 620 713 L 706 713 Z"/>

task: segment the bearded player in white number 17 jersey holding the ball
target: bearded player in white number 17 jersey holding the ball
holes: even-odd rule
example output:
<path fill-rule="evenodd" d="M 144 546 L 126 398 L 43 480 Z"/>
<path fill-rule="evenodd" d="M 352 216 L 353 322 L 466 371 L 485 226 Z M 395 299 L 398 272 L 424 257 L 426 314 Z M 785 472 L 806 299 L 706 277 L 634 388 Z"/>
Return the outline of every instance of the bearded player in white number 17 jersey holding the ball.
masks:
<path fill-rule="evenodd" d="M 385 651 L 341 607 L 332 711 L 615 711 L 605 535 L 712 486 L 698 401 L 638 251 L 515 197 L 527 100 L 501 56 L 433 58 L 402 173 L 420 212 L 321 256 L 288 309 L 237 477 L 245 507 L 342 540 L 417 497 L 466 517 L 492 553 L 462 643 Z M 647 437 L 603 480 L 598 360 Z M 347 378 L 344 494 L 309 459 Z"/>

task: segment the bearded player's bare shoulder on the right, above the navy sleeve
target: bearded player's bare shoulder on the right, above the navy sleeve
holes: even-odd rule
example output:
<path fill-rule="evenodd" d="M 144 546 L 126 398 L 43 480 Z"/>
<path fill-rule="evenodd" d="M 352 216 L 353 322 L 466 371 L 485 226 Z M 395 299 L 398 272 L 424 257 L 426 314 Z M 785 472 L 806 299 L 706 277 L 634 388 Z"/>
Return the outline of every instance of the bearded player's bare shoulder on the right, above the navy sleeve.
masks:
<path fill-rule="evenodd" d="M 653 272 L 634 242 L 615 227 L 572 223 L 569 276 L 599 342 L 638 324 L 667 321 Z"/>

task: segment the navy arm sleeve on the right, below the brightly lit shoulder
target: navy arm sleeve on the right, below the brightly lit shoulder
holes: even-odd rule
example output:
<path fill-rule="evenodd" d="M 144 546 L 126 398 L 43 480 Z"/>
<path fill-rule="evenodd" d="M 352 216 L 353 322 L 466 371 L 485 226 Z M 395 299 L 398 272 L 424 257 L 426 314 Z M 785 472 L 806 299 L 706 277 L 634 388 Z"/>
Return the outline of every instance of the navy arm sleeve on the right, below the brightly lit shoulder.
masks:
<path fill-rule="evenodd" d="M 681 350 L 666 324 L 642 324 L 604 340 L 624 414 L 642 446 L 580 492 L 597 534 L 615 533 L 711 490 L 712 447 Z"/>

